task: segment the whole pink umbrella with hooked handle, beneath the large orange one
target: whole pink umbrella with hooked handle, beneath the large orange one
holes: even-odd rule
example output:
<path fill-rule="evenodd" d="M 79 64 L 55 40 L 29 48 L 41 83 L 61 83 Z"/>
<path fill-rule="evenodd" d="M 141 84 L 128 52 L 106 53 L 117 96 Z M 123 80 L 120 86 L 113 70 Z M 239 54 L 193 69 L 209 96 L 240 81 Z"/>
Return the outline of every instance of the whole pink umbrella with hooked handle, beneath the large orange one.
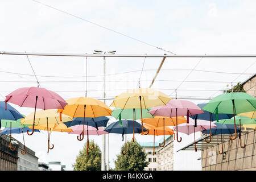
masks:
<path fill-rule="evenodd" d="M 93 150 L 94 146 L 90 148 L 89 146 L 89 135 L 103 135 L 103 134 L 108 134 L 108 132 L 104 131 L 104 127 L 98 127 L 98 130 L 95 127 L 92 126 L 87 126 L 87 147 L 86 147 L 86 155 L 89 155 L 88 148 L 90 150 Z M 68 134 L 79 134 L 80 137 L 84 131 L 84 125 L 75 125 L 72 126 L 71 129 L 73 132 L 68 132 Z"/>

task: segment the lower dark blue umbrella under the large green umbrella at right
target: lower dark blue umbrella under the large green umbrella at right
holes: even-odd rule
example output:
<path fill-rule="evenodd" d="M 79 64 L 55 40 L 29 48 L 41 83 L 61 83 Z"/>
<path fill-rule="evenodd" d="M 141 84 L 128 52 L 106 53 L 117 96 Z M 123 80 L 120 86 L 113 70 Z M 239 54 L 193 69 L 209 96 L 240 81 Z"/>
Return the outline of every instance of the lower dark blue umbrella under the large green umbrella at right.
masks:
<path fill-rule="evenodd" d="M 236 131 L 241 131 L 238 127 L 236 127 L 236 131 L 234 130 L 234 125 L 225 125 L 220 123 L 214 123 L 216 128 L 212 129 L 212 135 L 219 135 L 221 134 L 221 149 L 222 151 L 218 151 L 218 154 L 223 154 L 223 144 L 222 144 L 222 134 L 233 134 Z M 204 134 L 209 133 L 209 129 L 201 131 Z"/>

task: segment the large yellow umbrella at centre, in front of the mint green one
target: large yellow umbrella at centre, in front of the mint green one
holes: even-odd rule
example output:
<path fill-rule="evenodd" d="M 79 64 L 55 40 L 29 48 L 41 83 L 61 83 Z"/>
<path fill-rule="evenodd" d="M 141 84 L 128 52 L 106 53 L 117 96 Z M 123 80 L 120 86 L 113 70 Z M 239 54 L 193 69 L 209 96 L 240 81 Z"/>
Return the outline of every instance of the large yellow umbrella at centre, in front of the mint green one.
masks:
<path fill-rule="evenodd" d="M 121 109 L 141 109 L 142 130 L 144 130 L 142 109 L 166 105 L 171 99 L 171 97 L 163 92 L 151 88 L 139 88 L 121 93 L 119 96 L 115 97 L 110 106 Z"/>

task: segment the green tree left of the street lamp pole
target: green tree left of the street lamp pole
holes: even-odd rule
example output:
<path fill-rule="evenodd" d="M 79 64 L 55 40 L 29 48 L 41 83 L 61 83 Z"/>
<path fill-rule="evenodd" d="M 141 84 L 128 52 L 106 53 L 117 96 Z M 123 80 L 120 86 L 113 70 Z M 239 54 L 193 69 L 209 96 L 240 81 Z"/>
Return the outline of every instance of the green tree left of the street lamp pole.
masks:
<path fill-rule="evenodd" d="M 87 142 L 84 144 L 84 148 L 79 151 L 79 155 L 76 157 L 76 163 L 73 164 L 75 171 L 100 171 L 101 170 L 101 151 L 100 147 L 94 143 L 94 140 L 90 141 L 90 148 L 94 145 L 93 150 L 89 150 L 89 155 L 86 155 Z"/>

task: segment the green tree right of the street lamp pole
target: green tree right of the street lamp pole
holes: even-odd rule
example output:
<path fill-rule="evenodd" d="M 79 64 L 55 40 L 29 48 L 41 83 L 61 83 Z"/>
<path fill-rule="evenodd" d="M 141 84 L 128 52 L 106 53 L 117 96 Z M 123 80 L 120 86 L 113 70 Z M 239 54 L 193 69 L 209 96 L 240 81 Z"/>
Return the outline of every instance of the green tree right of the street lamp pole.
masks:
<path fill-rule="evenodd" d="M 125 151 L 125 144 L 121 148 Z M 145 167 L 148 166 L 149 162 L 146 161 L 146 152 L 139 145 L 139 143 L 134 140 L 134 142 L 127 142 L 127 153 L 123 155 L 120 152 L 117 155 L 117 160 L 115 160 L 115 170 L 117 171 L 143 171 Z"/>

